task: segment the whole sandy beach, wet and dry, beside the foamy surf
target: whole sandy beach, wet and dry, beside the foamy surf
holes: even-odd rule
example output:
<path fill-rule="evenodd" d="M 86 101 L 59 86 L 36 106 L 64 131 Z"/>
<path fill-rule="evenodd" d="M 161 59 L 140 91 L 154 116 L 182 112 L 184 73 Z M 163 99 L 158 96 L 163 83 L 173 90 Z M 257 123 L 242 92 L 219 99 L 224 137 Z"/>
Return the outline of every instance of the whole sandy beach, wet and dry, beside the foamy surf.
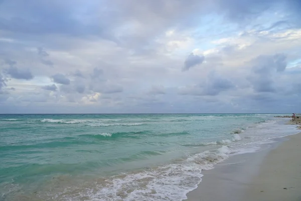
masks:
<path fill-rule="evenodd" d="M 301 200 L 301 133 L 277 140 L 265 150 L 232 156 L 204 171 L 187 200 Z"/>

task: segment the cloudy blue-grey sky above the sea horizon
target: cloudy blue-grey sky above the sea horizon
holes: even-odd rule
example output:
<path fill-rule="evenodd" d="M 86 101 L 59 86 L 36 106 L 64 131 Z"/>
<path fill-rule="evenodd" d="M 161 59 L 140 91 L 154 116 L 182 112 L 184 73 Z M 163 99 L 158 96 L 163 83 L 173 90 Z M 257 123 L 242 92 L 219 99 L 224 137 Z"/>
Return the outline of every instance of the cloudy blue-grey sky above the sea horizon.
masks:
<path fill-rule="evenodd" d="M 0 113 L 301 112 L 299 0 L 0 0 Z"/>

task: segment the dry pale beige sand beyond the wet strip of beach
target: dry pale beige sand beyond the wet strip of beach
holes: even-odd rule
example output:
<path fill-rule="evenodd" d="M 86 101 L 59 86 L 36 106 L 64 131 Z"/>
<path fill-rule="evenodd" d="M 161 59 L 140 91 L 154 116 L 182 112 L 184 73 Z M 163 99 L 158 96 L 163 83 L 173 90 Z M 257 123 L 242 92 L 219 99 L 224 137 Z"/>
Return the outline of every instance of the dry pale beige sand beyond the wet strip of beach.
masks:
<path fill-rule="evenodd" d="M 301 133 L 272 150 L 242 200 L 301 200 Z"/>

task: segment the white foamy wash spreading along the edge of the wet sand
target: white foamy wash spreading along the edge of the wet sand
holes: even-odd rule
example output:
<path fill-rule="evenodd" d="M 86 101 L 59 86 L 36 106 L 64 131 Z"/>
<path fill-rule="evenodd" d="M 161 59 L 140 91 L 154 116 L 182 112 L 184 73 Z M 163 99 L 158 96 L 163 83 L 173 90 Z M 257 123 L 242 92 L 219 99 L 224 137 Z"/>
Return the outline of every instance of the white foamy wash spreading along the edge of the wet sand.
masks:
<path fill-rule="evenodd" d="M 183 200 L 201 182 L 202 170 L 212 169 L 229 154 L 229 147 L 222 146 L 215 151 L 191 155 L 179 163 L 93 179 L 89 183 L 79 182 L 68 188 L 63 187 L 66 179 L 57 179 L 56 190 L 53 188 L 48 194 L 37 196 L 42 199 L 50 196 L 57 200 Z"/>

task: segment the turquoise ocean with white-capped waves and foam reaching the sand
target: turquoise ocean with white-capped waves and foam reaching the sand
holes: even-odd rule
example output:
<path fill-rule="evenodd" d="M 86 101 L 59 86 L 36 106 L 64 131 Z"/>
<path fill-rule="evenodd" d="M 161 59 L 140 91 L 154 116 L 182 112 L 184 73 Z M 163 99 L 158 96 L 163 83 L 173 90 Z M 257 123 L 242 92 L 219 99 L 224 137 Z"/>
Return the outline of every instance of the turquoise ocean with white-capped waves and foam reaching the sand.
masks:
<path fill-rule="evenodd" d="M 0 115 L 0 200 L 184 200 L 202 170 L 297 133 L 277 115 Z"/>

